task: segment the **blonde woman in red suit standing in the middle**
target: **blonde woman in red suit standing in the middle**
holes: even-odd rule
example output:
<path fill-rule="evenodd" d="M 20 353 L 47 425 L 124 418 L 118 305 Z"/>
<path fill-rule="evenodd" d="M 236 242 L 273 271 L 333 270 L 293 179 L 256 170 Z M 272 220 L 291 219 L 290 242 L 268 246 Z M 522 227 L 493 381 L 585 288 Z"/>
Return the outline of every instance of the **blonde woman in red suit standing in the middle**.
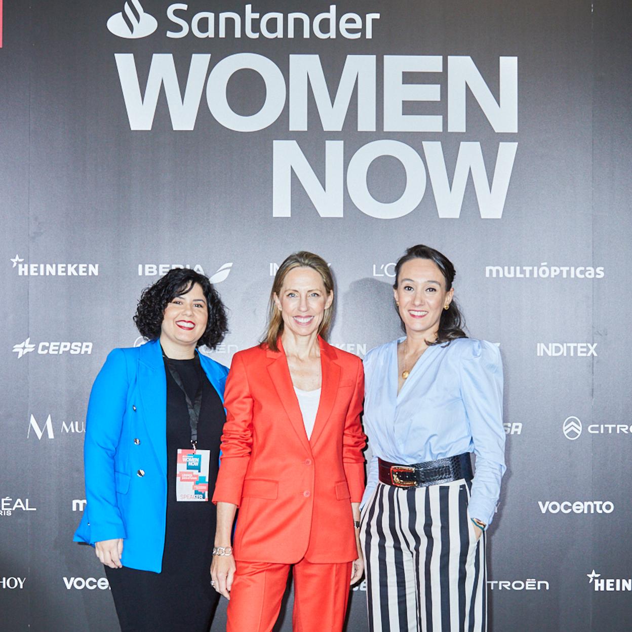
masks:
<path fill-rule="evenodd" d="M 293 566 L 293 628 L 340 631 L 363 572 L 362 362 L 324 341 L 333 278 L 318 255 L 281 264 L 265 341 L 236 353 L 213 502 L 212 583 L 228 632 L 268 632 Z M 239 518 L 231 547 L 236 509 Z"/>

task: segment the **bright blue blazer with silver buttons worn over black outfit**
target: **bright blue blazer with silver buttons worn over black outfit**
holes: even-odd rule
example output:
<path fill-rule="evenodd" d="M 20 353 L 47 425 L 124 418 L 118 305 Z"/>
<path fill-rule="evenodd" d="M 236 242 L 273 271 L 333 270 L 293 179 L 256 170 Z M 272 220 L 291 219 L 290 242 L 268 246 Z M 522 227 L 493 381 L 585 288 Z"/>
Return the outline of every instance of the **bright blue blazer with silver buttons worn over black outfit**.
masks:
<path fill-rule="evenodd" d="M 228 368 L 200 354 L 224 401 Z M 114 349 L 94 380 L 83 459 L 87 504 L 75 542 L 123 538 L 123 566 L 159 573 L 167 513 L 167 379 L 154 340 Z"/>

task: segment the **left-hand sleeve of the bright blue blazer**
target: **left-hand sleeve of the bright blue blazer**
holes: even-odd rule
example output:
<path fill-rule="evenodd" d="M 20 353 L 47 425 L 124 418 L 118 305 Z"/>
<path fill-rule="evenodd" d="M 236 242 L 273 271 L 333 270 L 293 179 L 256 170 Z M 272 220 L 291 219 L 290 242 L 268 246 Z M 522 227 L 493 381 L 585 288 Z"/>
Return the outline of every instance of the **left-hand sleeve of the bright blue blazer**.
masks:
<path fill-rule="evenodd" d="M 94 380 L 88 401 L 83 462 L 89 544 L 126 537 L 116 502 L 114 454 L 121 437 L 128 388 L 125 353 L 114 349 Z"/>

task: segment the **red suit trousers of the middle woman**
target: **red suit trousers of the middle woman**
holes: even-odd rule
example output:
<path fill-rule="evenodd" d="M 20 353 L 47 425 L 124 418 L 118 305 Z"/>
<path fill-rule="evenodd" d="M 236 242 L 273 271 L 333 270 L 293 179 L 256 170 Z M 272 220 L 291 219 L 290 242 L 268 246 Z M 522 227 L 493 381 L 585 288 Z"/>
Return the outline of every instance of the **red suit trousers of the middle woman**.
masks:
<path fill-rule="evenodd" d="M 291 564 L 238 561 L 226 632 L 270 632 L 281 609 Z M 294 564 L 294 632 L 341 632 L 352 562 Z"/>

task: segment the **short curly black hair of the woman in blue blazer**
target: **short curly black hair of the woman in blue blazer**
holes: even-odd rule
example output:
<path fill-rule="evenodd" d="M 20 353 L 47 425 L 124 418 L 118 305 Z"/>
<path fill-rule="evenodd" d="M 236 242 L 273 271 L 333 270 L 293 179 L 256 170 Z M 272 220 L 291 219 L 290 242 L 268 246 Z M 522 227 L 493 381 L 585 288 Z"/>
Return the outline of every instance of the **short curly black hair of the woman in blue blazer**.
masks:
<path fill-rule="evenodd" d="M 188 268 L 174 268 L 169 270 L 149 288 L 143 289 L 138 301 L 134 323 L 141 336 L 150 340 L 160 337 L 164 310 L 176 297 L 186 294 L 195 283 L 200 284 L 204 291 L 209 320 L 197 346 L 205 344 L 210 349 L 216 348 L 228 332 L 226 308 L 217 290 L 212 286 L 209 277 Z"/>

